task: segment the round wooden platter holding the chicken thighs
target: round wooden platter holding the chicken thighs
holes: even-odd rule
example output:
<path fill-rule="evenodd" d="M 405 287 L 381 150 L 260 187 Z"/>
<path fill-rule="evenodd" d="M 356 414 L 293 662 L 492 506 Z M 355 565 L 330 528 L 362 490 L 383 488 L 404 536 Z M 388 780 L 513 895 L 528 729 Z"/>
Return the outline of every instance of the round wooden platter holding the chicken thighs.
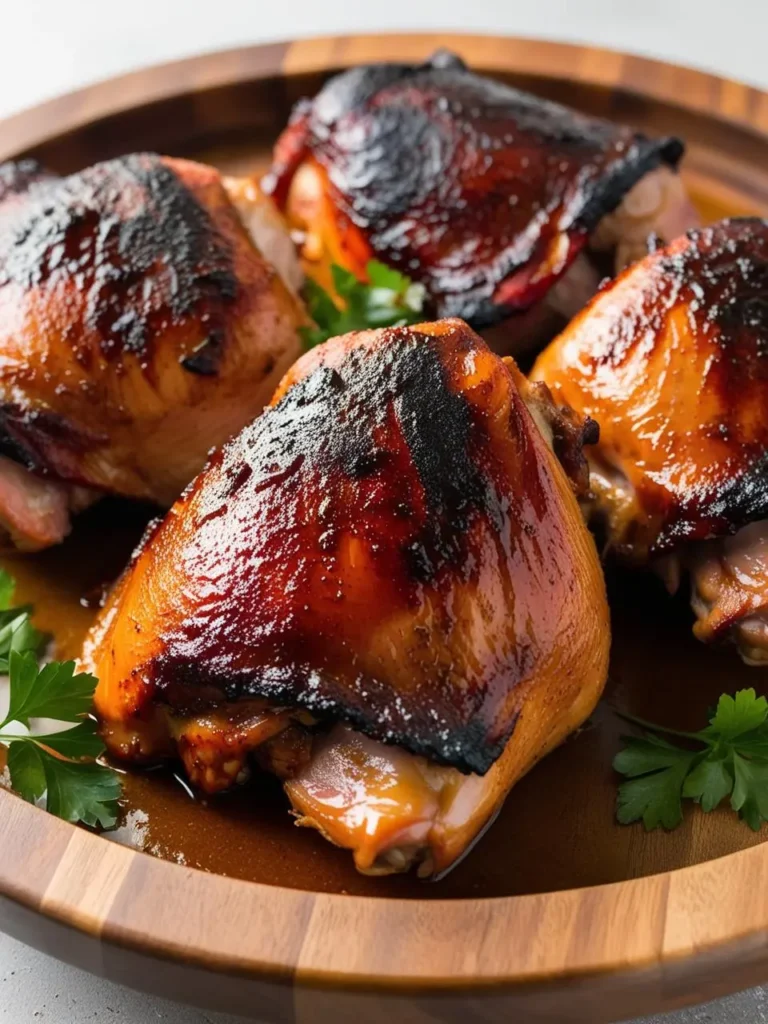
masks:
<path fill-rule="evenodd" d="M 685 177 L 708 219 L 768 212 L 768 95 L 605 50 L 474 36 L 315 39 L 150 69 L 7 120 L 0 159 L 32 155 L 70 171 L 151 148 L 252 169 L 292 103 L 330 73 L 438 46 L 571 105 L 683 136 Z M 91 528 L 101 530 L 97 541 Z M 68 564 L 79 551 L 81 568 L 94 562 L 89 552 L 110 549 L 112 528 L 103 517 L 79 527 L 65 546 Z M 48 598 L 73 622 L 86 614 L 76 598 L 87 572 L 65 572 L 62 558 L 13 565 L 44 627 Z M 700 722 L 722 689 L 765 688 L 764 672 L 690 639 L 684 602 L 641 578 L 620 578 L 611 591 L 610 701 Z M 55 625 L 62 648 L 74 644 L 82 622 Z M 596 1022 L 765 980 L 762 837 L 727 812 L 690 812 L 670 836 L 615 825 L 609 765 L 618 731 L 604 710 L 523 780 L 460 868 L 463 882 L 369 881 L 355 890 L 367 895 L 345 895 L 338 890 L 347 886 L 324 874 L 326 854 L 307 852 L 316 837 L 302 840 L 308 866 L 289 888 L 215 873 L 214 860 L 201 861 L 202 871 L 147 856 L 0 791 L 0 927 L 114 980 L 265 1021 Z M 219 820 L 222 842 L 234 842 Z M 275 860 L 295 856 L 294 831 L 272 839 Z M 250 877 L 245 867 L 231 873 Z"/>

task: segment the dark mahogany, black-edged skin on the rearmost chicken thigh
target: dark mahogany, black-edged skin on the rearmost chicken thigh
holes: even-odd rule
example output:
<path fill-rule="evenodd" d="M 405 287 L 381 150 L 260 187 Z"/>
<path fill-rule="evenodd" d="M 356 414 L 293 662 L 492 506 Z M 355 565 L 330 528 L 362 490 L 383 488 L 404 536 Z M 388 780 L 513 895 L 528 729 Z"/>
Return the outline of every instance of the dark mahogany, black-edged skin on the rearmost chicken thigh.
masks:
<path fill-rule="evenodd" d="M 440 52 L 333 79 L 296 109 L 265 183 L 285 207 L 297 174 L 318 172 L 336 262 L 361 273 L 375 256 L 422 282 L 437 315 L 479 325 L 541 299 L 603 215 L 681 155 L 676 139 L 651 141 Z"/>

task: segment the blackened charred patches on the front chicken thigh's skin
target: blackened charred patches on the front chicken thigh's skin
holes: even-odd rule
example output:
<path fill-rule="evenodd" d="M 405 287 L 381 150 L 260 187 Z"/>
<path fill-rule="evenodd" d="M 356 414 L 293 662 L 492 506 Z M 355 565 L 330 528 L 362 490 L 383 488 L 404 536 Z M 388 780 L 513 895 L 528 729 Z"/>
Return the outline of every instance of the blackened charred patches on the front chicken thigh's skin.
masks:
<path fill-rule="evenodd" d="M 341 429 L 334 429 L 335 425 L 341 425 Z M 227 446 L 220 457 L 223 465 L 219 492 L 208 496 L 210 508 L 204 521 L 217 513 L 225 514 L 232 501 L 247 507 L 252 496 L 270 490 L 275 480 L 301 489 L 311 486 L 321 503 L 317 561 L 332 572 L 338 557 L 334 535 L 346 534 L 352 526 L 351 521 L 338 518 L 341 492 L 346 481 L 354 481 L 372 495 L 376 515 L 366 521 L 355 503 L 350 519 L 361 520 L 369 540 L 376 535 L 374 543 L 379 546 L 380 560 L 388 566 L 384 570 L 380 565 L 380 570 L 395 581 L 400 599 L 408 604 L 416 599 L 420 586 L 434 583 L 442 569 L 456 571 L 466 563 L 467 530 L 474 515 L 484 514 L 495 521 L 504 518 L 493 481 L 472 462 L 473 429 L 481 427 L 473 426 L 465 399 L 447 389 L 434 343 L 415 332 L 392 332 L 390 345 L 377 358 L 355 350 L 343 368 L 318 369 L 294 385 L 275 408 L 265 412 Z M 393 441 L 390 432 L 400 437 Z M 252 471 L 245 478 L 244 463 Z M 402 478 L 404 485 L 389 485 L 395 475 Z M 421 514 L 414 508 L 416 497 L 411 500 L 417 486 L 422 490 Z M 334 508 L 334 515 L 327 521 L 322 511 L 324 497 Z M 231 514 L 231 509 L 228 512 Z M 400 525 L 400 537 L 394 544 L 388 530 L 393 519 Z M 290 522 L 284 528 L 293 531 Z M 291 547 L 286 558 L 292 557 Z M 296 582 L 296 586 L 306 587 L 307 593 L 311 568 L 310 560 L 305 578 Z M 339 600 L 343 600 L 342 594 Z M 290 635 L 291 627 L 287 626 L 286 634 Z M 196 623 L 184 624 L 179 634 L 163 638 L 166 649 L 160 675 L 172 679 L 174 689 L 190 685 L 203 692 L 222 688 L 223 697 L 229 701 L 261 695 L 275 701 L 305 703 L 315 712 L 343 714 L 360 726 L 371 724 L 368 705 L 381 708 L 389 699 L 386 684 L 371 678 L 360 680 L 368 697 L 359 699 L 358 695 L 356 706 L 348 702 L 347 694 L 341 698 L 330 695 L 328 688 L 322 695 L 314 695 L 307 685 L 309 673 L 300 666 L 288 671 L 278 668 L 281 663 L 286 665 L 280 650 L 293 646 L 287 638 L 275 647 L 273 669 L 265 669 L 260 678 L 248 673 L 240 679 L 237 670 L 229 669 L 229 680 L 222 687 L 227 663 L 219 663 L 216 656 L 188 657 L 190 649 L 205 642 L 208 634 L 207 627 L 199 629 Z M 313 641 L 309 631 L 303 634 L 303 643 L 309 648 L 313 642 L 316 638 Z M 317 647 L 322 646 L 321 641 Z M 178 660 L 176 650 L 182 652 Z M 305 653 L 311 663 L 310 650 Z M 404 741 L 408 735 L 413 742 L 413 724 L 407 733 L 404 720 L 398 721 L 398 709 L 393 712 L 391 731 L 398 733 L 399 725 L 402 734 L 397 738 Z M 428 748 L 425 741 L 424 751 L 436 757 L 453 749 L 482 750 L 485 728 L 479 718 L 455 724 L 441 748 Z M 501 746 L 493 753 L 498 756 Z"/>

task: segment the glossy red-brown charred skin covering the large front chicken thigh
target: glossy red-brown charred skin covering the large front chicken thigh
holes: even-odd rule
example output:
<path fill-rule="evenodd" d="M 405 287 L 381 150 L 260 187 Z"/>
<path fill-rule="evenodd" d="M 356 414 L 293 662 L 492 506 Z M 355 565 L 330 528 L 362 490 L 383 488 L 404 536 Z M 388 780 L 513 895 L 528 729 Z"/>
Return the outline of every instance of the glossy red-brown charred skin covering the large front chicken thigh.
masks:
<path fill-rule="evenodd" d="M 608 633 L 594 545 L 516 381 L 460 321 L 302 357 L 102 611 L 84 662 L 108 731 L 153 702 L 264 696 L 464 771 L 521 715 L 543 744 L 548 709 L 585 674 L 602 685 Z"/>

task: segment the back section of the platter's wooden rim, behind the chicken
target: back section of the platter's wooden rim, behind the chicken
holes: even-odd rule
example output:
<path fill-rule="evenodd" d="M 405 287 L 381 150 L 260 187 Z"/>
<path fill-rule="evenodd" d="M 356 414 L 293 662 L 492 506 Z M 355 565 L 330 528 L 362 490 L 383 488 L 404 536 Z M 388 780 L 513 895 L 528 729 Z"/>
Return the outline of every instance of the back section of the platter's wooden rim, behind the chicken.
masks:
<path fill-rule="evenodd" d="M 740 128 L 768 134 L 768 93 L 640 54 L 526 37 L 472 33 L 314 36 L 232 47 L 128 72 L 62 93 L 0 121 L 0 160 L 26 153 L 87 124 L 190 92 L 272 77 L 340 70 L 365 59 L 420 59 L 454 49 L 487 73 L 618 87 Z M 55 130 L 51 129 L 55 125 Z"/>

